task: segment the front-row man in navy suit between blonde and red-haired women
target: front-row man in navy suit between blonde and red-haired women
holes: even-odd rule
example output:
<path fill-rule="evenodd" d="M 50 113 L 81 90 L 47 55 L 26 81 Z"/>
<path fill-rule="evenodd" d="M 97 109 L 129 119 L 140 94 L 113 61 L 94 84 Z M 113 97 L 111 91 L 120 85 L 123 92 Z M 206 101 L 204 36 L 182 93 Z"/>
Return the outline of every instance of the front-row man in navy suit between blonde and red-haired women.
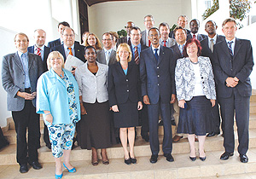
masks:
<path fill-rule="evenodd" d="M 175 101 L 174 72 L 172 71 L 172 49 L 160 45 L 160 32 L 153 27 L 148 31 L 152 46 L 144 49 L 140 56 L 140 78 L 143 102 L 148 105 L 149 142 L 151 163 L 156 163 L 160 151 L 158 119 L 164 123 L 163 152 L 166 160 L 172 158 L 172 124 L 170 101 Z"/>

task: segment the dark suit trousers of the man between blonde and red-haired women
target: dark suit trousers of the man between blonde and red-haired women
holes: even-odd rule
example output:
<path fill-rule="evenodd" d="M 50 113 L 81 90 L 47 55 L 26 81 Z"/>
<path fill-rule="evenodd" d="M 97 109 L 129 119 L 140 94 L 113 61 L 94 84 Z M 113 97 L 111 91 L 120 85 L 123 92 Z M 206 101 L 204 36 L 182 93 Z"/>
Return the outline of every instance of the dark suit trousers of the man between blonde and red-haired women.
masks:
<path fill-rule="evenodd" d="M 149 142 L 152 154 L 158 154 L 160 143 L 158 137 L 159 113 L 164 123 L 163 152 L 172 153 L 172 123 L 170 103 L 158 101 L 156 104 L 148 105 Z"/>

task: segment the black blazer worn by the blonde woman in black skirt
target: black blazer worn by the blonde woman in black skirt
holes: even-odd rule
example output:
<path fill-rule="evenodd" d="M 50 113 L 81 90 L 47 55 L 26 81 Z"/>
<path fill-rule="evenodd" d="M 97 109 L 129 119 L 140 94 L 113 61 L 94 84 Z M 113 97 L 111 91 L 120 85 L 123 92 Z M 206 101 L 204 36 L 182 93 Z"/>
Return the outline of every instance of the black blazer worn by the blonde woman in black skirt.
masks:
<path fill-rule="evenodd" d="M 108 68 L 109 106 L 123 104 L 126 101 L 142 101 L 139 82 L 139 69 L 135 63 L 128 63 L 127 75 L 119 62 Z"/>

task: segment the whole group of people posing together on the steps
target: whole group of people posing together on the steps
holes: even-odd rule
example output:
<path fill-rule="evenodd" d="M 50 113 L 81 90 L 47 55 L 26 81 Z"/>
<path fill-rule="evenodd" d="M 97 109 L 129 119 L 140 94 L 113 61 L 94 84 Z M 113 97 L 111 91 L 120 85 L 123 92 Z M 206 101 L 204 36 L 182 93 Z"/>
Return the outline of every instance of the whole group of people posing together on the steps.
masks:
<path fill-rule="evenodd" d="M 198 140 L 199 159 L 204 161 L 206 136 L 220 133 L 218 105 L 225 149 L 220 159 L 234 154 L 236 112 L 238 153 L 240 161 L 247 163 L 253 52 L 250 41 L 236 38 L 236 20 L 224 20 L 224 36 L 216 34 L 218 26 L 212 20 L 205 26 L 207 35 L 198 33 L 199 20 L 191 20 L 190 30 L 185 29 L 185 15 L 178 17 L 172 32 L 165 22 L 154 27 L 152 15 L 144 17 L 144 24 L 142 32 L 128 21 L 126 37 L 118 39 L 116 32 L 105 32 L 102 44 L 96 34 L 84 32 L 80 45 L 67 22 L 58 25 L 61 38 L 48 47 L 42 29 L 35 31 L 36 44 L 31 47 L 26 34 L 15 35 L 18 51 L 3 56 L 2 81 L 15 121 L 21 173 L 28 171 L 27 163 L 36 170 L 42 168 L 38 163 L 39 114 L 45 123 L 44 141 L 55 157 L 55 178 L 61 178 L 62 155 L 64 167 L 76 171 L 69 161 L 76 132 L 79 146 L 92 151 L 92 165 L 99 164 L 97 149 L 101 149 L 102 164 L 109 164 L 106 148 L 117 136 L 124 162 L 131 165 L 137 163 L 135 127 L 141 124 L 141 135 L 152 152 L 149 160 L 156 163 L 160 120 L 167 161 L 174 161 L 172 141 L 183 135 L 188 135 L 189 159 L 196 159 Z M 69 55 L 84 65 L 73 66 L 69 72 L 64 67 Z M 172 125 L 177 126 L 173 138 Z"/>

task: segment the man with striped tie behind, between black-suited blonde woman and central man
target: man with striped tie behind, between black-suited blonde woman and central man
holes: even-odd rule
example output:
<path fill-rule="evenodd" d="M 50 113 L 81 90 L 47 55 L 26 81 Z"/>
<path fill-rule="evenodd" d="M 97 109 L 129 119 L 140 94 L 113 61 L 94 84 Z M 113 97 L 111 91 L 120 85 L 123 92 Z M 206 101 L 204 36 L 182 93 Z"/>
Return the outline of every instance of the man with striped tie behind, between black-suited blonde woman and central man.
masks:
<path fill-rule="evenodd" d="M 137 26 L 132 27 L 132 29 L 131 29 L 131 45 L 130 45 L 130 49 L 131 49 L 131 53 L 132 53 L 131 63 L 135 63 L 138 66 L 140 64 L 141 51 L 143 51 L 143 49 L 148 48 L 147 46 L 145 46 L 141 43 L 141 38 L 142 38 L 142 34 L 141 34 L 140 28 Z M 149 141 L 148 107 L 145 104 L 143 104 L 143 109 L 141 111 L 139 111 L 139 120 L 142 124 L 141 136 L 143 137 L 143 139 L 145 141 Z"/>

